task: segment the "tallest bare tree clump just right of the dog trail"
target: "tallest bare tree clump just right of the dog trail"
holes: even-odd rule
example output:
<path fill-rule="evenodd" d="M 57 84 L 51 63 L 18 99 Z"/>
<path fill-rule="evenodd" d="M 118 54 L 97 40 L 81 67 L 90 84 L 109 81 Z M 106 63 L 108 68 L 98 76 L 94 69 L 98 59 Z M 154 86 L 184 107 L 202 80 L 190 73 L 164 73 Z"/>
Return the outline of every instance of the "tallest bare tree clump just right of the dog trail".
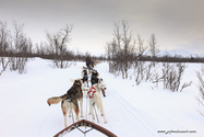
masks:
<path fill-rule="evenodd" d="M 107 55 L 113 59 L 113 66 L 128 79 L 132 56 L 135 52 L 135 41 L 129 31 L 128 22 L 122 20 L 113 24 L 113 39 L 107 43 Z"/>

